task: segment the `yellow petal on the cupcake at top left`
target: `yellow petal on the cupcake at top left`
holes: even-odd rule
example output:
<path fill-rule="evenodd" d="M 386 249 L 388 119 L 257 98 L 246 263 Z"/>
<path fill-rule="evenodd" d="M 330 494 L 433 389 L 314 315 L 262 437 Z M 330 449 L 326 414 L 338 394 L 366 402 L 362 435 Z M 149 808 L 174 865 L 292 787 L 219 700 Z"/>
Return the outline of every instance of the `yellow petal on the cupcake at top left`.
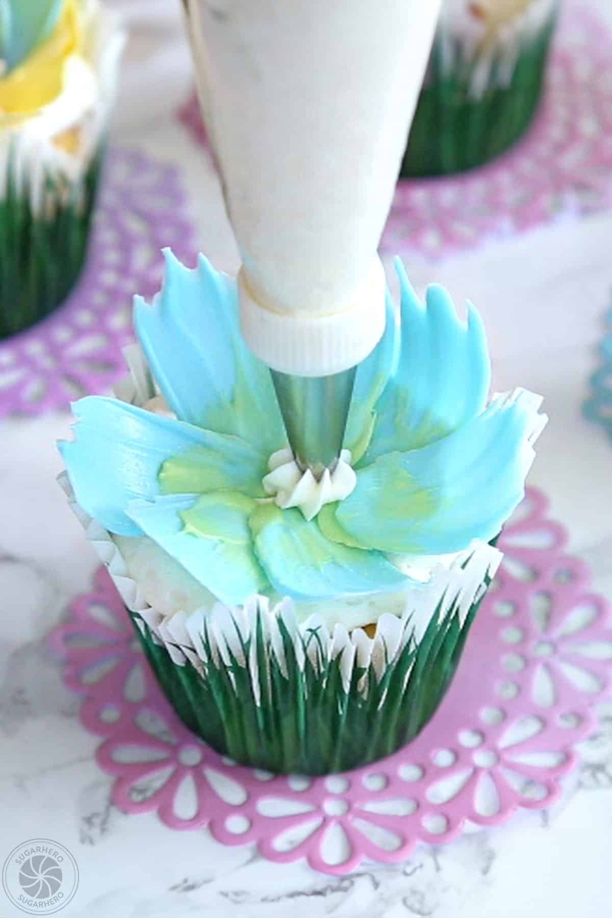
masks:
<path fill-rule="evenodd" d="M 78 0 L 66 0 L 60 21 L 50 37 L 0 79 L 0 127 L 5 116 L 15 123 L 53 102 L 63 88 L 66 61 L 82 47 Z"/>

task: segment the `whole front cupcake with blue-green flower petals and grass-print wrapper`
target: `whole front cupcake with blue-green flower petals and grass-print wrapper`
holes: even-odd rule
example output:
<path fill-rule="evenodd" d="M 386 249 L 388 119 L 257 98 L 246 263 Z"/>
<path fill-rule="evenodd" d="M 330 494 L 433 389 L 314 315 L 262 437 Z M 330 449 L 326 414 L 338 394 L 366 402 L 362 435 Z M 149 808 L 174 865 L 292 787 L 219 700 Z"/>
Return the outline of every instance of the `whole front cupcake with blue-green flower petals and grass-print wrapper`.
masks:
<path fill-rule="evenodd" d="M 236 282 L 166 253 L 117 398 L 73 405 L 62 484 L 161 689 L 242 764 L 322 774 L 406 744 L 440 704 L 524 494 L 541 399 L 489 399 L 481 319 L 421 303 L 359 365 L 333 472 L 286 442 Z"/>

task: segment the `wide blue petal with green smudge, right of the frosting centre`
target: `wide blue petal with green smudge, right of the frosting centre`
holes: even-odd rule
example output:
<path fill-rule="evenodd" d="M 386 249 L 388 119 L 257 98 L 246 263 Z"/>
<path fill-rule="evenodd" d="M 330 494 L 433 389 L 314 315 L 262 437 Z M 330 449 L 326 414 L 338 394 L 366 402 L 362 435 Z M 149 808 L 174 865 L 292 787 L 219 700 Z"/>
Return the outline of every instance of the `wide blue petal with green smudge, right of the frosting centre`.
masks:
<path fill-rule="evenodd" d="M 517 390 L 442 440 L 379 457 L 336 505 L 339 532 L 392 554 L 449 554 L 473 539 L 489 542 L 523 498 L 531 443 L 546 421 L 540 403 Z"/>

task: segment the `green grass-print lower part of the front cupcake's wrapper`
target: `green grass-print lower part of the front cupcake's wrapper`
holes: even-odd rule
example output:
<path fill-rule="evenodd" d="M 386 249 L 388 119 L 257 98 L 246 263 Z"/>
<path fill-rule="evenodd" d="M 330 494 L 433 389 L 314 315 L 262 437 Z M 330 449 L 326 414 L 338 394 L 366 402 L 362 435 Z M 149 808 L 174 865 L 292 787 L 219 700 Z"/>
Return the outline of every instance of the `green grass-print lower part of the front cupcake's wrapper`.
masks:
<path fill-rule="evenodd" d="M 366 765 L 417 735 L 451 683 L 480 599 L 462 622 L 453 609 L 432 618 L 418 646 L 407 619 L 391 627 L 381 619 L 371 640 L 360 630 L 330 636 L 314 621 L 292 633 L 290 615 L 253 606 L 246 633 L 235 614 L 206 622 L 198 635 L 206 662 L 172 643 L 172 627 L 155 633 L 145 617 L 132 618 L 166 697 L 194 733 L 243 765 L 317 775 Z M 387 631 L 398 644 L 393 655 Z"/>

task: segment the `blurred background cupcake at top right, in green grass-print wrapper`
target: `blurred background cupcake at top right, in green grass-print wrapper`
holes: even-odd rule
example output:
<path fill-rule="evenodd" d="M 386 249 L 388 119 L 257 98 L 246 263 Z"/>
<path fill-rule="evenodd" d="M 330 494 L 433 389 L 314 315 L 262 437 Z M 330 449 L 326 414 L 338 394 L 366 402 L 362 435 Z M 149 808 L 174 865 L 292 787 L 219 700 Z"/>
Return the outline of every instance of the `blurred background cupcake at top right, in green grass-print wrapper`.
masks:
<path fill-rule="evenodd" d="M 559 0 L 442 0 L 403 177 L 473 169 L 525 133 L 558 8 Z"/>

